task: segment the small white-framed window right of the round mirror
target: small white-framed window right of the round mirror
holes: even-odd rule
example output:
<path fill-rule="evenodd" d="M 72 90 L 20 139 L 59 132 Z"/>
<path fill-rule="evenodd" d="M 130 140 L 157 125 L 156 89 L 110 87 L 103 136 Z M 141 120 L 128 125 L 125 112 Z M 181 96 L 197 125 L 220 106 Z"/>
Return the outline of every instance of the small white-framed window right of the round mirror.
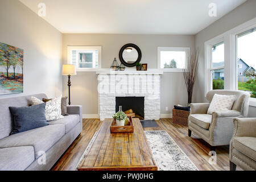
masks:
<path fill-rule="evenodd" d="M 182 72 L 190 48 L 158 47 L 158 68 L 167 72 Z"/>

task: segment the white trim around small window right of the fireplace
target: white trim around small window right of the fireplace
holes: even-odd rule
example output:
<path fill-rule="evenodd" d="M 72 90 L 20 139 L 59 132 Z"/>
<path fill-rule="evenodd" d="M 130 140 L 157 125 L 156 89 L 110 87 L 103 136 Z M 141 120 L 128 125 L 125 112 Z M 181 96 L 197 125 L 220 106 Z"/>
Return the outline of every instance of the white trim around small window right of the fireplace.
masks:
<path fill-rule="evenodd" d="M 185 51 L 187 55 L 185 56 L 185 65 L 187 65 L 187 56 L 190 54 L 190 47 L 158 47 L 158 69 L 163 72 L 174 72 L 181 73 L 183 69 L 181 68 L 161 68 L 161 58 L 160 51 Z"/>

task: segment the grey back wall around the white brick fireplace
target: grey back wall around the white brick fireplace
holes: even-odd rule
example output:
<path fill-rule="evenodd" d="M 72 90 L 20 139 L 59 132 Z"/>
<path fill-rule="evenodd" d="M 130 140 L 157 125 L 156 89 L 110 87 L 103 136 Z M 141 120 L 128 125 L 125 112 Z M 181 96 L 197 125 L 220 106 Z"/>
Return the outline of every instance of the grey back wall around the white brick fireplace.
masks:
<path fill-rule="evenodd" d="M 102 68 L 110 68 L 114 57 L 127 43 L 141 48 L 142 61 L 148 69 L 157 68 L 157 47 L 195 47 L 193 35 L 123 35 L 123 34 L 63 34 L 63 57 L 67 63 L 67 46 L 102 46 Z M 119 58 L 118 58 L 119 60 Z M 72 104 L 82 104 L 83 114 L 98 114 L 97 75 L 78 72 L 72 76 Z M 67 77 L 63 77 L 63 95 L 68 95 Z M 187 104 L 187 91 L 182 73 L 164 73 L 161 78 L 161 114 L 170 114 L 175 104 Z M 168 110 L 166 110 L 168 107 Z"/>

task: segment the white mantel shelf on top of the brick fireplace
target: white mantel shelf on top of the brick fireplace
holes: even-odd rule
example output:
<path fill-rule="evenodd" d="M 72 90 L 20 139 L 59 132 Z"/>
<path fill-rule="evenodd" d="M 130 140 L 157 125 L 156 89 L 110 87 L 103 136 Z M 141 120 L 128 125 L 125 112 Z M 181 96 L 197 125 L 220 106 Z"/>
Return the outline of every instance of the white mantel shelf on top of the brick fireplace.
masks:
<path fill-rule="evenodd" d="M 97 75 L 100 74 L 118 74 L 118 75 L 129 75 L 129 74 L 134 74 L 134 75 L 163 75 L 163 71 L 159 69 L 148 69 L 147 71 L 136 71 L 136 69 L 127 69 L 125 71 L 112 71 L 111 69 L 98 69 L 96 71 Z"/>

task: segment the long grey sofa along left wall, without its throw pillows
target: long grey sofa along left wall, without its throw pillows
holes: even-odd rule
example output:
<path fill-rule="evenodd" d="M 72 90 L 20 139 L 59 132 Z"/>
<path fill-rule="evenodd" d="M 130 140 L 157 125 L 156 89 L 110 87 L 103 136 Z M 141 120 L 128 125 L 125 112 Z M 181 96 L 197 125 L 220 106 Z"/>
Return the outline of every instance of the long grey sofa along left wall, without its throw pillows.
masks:
<path fill-rule="evenodd" d="M 45 94 L 33 96 L 47 98 Z M 82 107 L 77 105 L 67 107 L 69 115 L 64 119 L 10 136 L 13 121 L 9 106 L 29 105 L 31 96 L 0 99 L 1 171 L 49 170 L 82 131 Z M 45 164 L 43 156 L 46 157 Z"/>

